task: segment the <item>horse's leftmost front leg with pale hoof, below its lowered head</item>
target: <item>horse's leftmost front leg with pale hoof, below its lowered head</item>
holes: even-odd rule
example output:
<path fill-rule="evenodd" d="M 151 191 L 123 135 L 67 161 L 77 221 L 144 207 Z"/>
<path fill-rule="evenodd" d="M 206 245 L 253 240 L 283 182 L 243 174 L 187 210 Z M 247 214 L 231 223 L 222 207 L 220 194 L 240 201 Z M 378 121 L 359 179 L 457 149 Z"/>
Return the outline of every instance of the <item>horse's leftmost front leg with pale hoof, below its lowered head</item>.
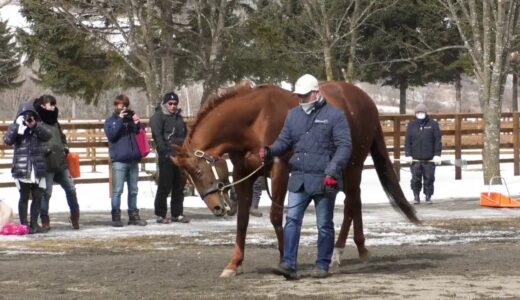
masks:
<path fill-rule="evenodd" d="M 252 181 L 246 180 L 236 185 L 238 198 L 237 234 L 231 260 L 226 265 L 221 278 L 234 277 L 238 268 L 244 261 L 244 248 L 246 244 L 247 226 L 249 225 L 249 207 L 251 206 Z"/>

